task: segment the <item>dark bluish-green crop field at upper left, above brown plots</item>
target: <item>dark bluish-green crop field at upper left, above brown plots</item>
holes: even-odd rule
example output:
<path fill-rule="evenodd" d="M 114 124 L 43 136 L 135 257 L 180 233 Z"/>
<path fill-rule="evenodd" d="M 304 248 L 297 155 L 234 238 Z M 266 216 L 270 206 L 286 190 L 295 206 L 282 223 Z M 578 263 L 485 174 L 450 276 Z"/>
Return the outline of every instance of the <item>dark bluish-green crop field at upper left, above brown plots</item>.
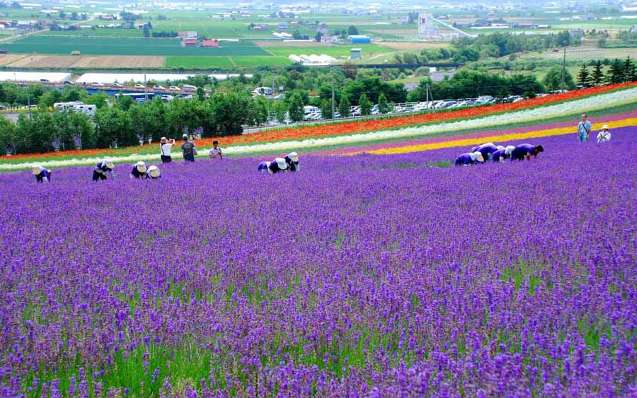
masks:
<path fill-rule="evenodd" d="M 11 53 L 21 54 L 71 54 L 72 51 L 79 51 L 83 55 L 268 55 L 264 49 L 245 40 L 223 42 L 221 47 L 183 48 L 177 39 L 122 38 L 112 40 L 107 37 L 29 36 L 22 40 L 6 43 L 3 47 Z"/>

